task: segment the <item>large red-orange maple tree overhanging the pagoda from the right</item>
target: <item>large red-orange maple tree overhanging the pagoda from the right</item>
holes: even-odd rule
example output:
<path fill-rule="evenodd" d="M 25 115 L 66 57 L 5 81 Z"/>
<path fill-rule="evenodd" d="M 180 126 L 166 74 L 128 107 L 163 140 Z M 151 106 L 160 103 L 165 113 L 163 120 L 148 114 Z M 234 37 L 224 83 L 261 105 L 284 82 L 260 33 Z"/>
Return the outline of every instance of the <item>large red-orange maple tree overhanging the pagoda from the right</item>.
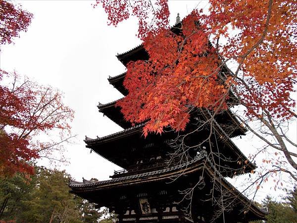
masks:
<path fill-rule="evenodd" d="M 228 108 L 232 92 L 244 108 L 244 116 L 237 115 L 243 125 L 268 145 L 265 149 L 281 151 L 293 167 L 275 157 L 268 173 L 288 172 L 297 180 L 297 154 L 290 150 L 297 145 L 285 133 L 288 121 L 297 117 L 291 98 L 297 83 L 296 1 L 209 0 L 208 10 L 195 9 L 171 29 L 167 3 L 96 1 L 109 24 L 138 19 L 138 36 L 149 55 L 127 65 L 129 94 L 117 103 L 124 117 L 132 123 L 147 121 L 145 136 L 166 126 L 182 130 L 193 108 L 214 116 Z M 256 121 L 259 130 L 250 124 Z"/>

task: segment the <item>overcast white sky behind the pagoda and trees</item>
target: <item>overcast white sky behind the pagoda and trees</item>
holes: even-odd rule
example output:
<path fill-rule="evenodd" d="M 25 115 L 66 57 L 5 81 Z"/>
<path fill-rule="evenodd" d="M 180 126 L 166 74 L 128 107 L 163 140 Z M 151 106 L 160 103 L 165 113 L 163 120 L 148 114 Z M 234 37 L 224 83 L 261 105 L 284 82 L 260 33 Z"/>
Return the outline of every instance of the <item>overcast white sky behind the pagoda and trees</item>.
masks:
<path fill-rule="evenodd" d="M 125 67 L 116 54 L 138 46 L 137 23 L 131 18 L 118 27 L 107 26 L 107 16 L 93 0 L 23 0 L 23 8 L 34 14 L 27 33 L 5 45 L 0 52 L 0 68 L 15 69 L 37 82 L 51 85 L 64 92 L 66 105 L 75 111 L 73 133 L 78 134 L 76 145 L 69 145 L 66 157 L 70 164 L 62 166 L 77 180 L 82 177 L 107 179 L 119 169 L 97 154 L 90 154 L 83 142 L 121 130 L 121 127 L 98 112 L 98 102 L 108 103 L 122 95 L 109 85 L 107 77 L 118 75 Z M 175 23 L 192 11 L 199 1 L 170 1 L 170 21 Z M 205 7 L 200 1 L 198 7 Z M 250 137 L 235 140 L 248 156 Z M 253 141 L 257 144 L 257 141 Z M 269 191 L 261 192 L 264 196 Z"/>

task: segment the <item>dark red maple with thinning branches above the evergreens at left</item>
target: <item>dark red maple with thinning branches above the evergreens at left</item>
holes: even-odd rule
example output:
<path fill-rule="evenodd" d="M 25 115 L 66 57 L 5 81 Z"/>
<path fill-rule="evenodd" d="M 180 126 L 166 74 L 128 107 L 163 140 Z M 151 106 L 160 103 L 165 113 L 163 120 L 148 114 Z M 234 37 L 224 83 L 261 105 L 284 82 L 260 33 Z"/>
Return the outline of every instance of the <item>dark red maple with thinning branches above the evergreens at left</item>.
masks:
<path fill-rule="evenodd" d="M 0 175 L 32 174 L 28 162 L 49 156 L 52 149 L 39 139 L 42 133 L 54 130 L 67 138 L 72 118 L 58 90 L 0 70 Z"/>

